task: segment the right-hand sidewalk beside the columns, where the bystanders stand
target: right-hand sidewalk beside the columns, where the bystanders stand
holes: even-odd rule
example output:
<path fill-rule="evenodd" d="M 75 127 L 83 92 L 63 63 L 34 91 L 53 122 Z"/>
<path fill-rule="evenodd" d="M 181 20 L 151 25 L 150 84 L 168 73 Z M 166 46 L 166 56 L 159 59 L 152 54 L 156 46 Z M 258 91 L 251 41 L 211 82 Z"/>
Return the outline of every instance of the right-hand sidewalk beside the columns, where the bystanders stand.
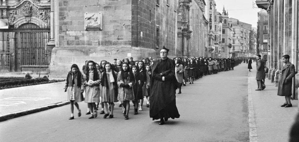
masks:
<path fill-rule="evenodd" d="M 254 67 L 254 65 L 252 66 Z M 250 140 L 287 142 L 290 127 L 298 113 L 298 100 L 291 100 L 293 107 L 280 107 L 285 102 L 285 98 L 284 96 L 277 96 L 278 87 L 275 86 L 275 83 L 271 83 L 266 78 L 265 90 L 255 91 L 257 89 L 255 75 L 256 69 L 254 67 L 252 72 L 248 73 Z M 250 111 L 250 105 L 253 106 L 253 112 Z M 252 115 L 250 116 L 251 112 Z"/>

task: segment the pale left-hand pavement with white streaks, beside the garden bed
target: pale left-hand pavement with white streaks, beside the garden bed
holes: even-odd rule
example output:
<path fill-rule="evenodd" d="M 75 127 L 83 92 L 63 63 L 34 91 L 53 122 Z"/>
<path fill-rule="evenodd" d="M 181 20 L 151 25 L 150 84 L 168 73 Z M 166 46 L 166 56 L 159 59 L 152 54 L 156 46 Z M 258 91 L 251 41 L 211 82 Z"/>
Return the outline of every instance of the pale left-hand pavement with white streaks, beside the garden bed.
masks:
<path fill-rule="evenodd" d="M 0 90 L 0 121 L 69 103 L 64 82 Z"/>

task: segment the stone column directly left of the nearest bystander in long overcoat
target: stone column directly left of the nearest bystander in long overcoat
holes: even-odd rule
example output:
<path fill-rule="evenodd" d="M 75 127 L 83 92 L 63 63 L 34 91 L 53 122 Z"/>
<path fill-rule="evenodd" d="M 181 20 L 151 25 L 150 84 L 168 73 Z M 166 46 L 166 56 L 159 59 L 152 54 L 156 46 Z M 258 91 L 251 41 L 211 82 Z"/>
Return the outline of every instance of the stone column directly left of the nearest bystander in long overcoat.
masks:
<path fill-rule="evenodd" d="M 283 19 L 284 19 L 284 11 L 283 11 L 283 1 L 277 1 L 277 70 L 275 71 L 275 85 L 278 86 L 278 81 L 280 78 L 280 71 L 282 69 L 282 61 L 281 57 L 283 56 Z"/>

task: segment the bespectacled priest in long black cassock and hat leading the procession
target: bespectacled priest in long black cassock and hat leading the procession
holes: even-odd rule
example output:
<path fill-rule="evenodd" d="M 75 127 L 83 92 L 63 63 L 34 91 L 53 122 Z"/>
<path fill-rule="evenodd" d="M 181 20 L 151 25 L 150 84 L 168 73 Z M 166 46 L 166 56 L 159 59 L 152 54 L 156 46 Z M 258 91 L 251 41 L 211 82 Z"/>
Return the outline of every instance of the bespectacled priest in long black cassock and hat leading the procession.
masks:
<path fill-rule="evenodd" d="M 180 117 L 175 104 L 175 90 L 178 87 L 175 62 L 167 58 L 168 51 L 169 49 L 163 46 L 160 51 L 161 59 L 156 60 L 152 67 L 149 117 L 153 120 L 160 119 L 159 125 L 163 125 L 168 118 Z"/>

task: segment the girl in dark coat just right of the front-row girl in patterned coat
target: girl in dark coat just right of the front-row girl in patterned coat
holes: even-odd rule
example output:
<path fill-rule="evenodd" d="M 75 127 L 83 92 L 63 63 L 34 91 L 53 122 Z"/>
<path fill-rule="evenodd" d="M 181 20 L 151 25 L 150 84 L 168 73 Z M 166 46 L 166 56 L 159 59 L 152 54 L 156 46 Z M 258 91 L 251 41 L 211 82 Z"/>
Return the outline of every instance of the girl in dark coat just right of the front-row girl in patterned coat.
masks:
<path fill-rule="evenodd" d="M 143 73 L 139 72 L 137 66 L 132 66 L 132 73 L 134 74 L 135 77 L 135 85 L 133 86 L 135 99 L 132 102 L 134 103 L 134 114 L 138 114 L 137 110 L 138 110 L 139 101 L 143 98 L 142 86 L 144 84 L 144 79 L 143 79 Z"/>

